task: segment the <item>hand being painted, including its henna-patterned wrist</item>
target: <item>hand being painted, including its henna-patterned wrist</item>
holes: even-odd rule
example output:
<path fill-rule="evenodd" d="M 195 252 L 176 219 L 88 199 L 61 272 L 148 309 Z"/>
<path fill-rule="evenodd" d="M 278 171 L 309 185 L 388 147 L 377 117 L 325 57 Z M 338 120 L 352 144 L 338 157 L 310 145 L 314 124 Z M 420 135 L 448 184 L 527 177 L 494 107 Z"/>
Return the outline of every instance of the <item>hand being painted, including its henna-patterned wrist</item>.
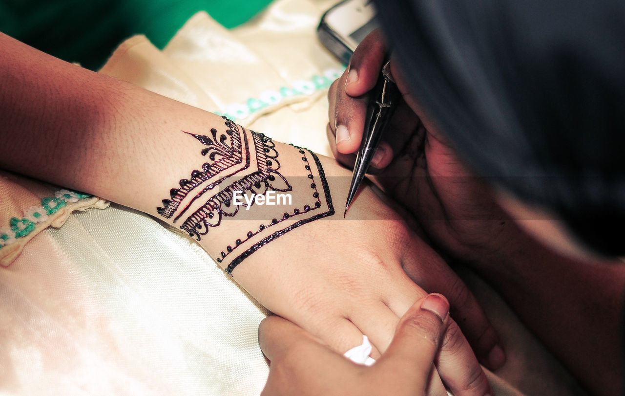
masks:
<path fill-rule="evenodd" d="M 367 335 L 378 358 L 399 318 L 426 294 L 404 267 L 419 268 L 427 290 L 465 287 L 371 185 L 344 218 L 351 173 L 336 161 L 211 118 L 207 135 L 181 133 L 187 160 L 197 165 L 174 188 L 163 188 L 169 196 L 158 213 L 196 238 L 272 312 L 338 353 Z M 462 310 L 494 333 L 474 300 Z M 455 325 L 447 331 L 461 337 Z M 454 358 L 473 356 L 466 342 L 454 345 Z M 459 380 L 454 365 L 439 370 L 446 383 Z"/>

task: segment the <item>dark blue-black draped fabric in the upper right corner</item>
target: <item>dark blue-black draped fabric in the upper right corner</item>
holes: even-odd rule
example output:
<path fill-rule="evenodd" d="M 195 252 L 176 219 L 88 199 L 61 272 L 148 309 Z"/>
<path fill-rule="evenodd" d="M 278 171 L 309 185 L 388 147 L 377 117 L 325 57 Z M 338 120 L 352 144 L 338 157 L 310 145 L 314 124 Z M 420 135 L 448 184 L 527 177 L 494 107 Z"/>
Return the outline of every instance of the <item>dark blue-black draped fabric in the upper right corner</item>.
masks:
<path fill-rule="evenodd" d="M 625 255 L 625 2 L 377 8 L 417 100 L 476 173 Z"/>

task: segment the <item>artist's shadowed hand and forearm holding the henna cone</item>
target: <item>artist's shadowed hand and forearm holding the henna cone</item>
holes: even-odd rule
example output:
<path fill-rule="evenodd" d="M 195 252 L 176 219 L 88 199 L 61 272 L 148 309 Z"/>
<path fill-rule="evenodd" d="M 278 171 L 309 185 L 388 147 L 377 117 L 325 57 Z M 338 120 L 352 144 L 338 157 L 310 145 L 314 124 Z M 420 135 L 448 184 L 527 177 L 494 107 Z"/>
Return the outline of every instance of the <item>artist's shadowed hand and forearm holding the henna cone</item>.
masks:
<path fill-rule="evenodd" d="M 371 34 L 330 89 L 327 133 L 342 163 L 352 163 L 359 146 L 365 95 L 385 52 L 379 34 Z M 394 140 L 381 146 L 374 164 L 377 183 L 416 216 L 440 251 L 489 280 L 593 394 L 617 394 L 625 265 L 585 254 L 566 231 L 558 231 L 565 227 L 557 216 L 475 176 L 427 119 L 396 63 L 392 66 L 405 103 L 387 133 Z M 418 269 L 407 273 L 418 282 Z"/>

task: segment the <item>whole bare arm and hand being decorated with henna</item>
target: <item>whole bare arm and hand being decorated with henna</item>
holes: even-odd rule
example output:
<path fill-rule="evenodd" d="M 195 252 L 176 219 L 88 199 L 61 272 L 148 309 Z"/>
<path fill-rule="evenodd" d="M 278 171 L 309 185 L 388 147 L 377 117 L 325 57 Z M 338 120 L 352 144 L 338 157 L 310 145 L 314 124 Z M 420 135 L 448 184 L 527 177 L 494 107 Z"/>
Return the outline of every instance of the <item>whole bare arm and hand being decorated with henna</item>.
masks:
<path fill-rule="evenodd" d="M 404 218 L 371 187 L 357 196 L 346 219 L 342 213 L 328 214 L 261 243 L 273 231 L 256 234 L 256 230 L 260 225 L 272 225 L 273 218 L 282 219 L 283 213 L 293 215 L 295 209 L 304 211 L 307 202 L 314 206 L 319 199 L 318 212 L 311 208 L 310 215 L 289 216 L 283 223 L 272 225 L 272 230 L 284 231 L 299 218 L 330 213 L 326 192 L 335 202 L 345 201 L 351 173 L 336 161 L 319 157 L 317 163 L 309 151 L 302 154 L 300 149 L 282 143 L 271 142 L 274 148 L 263 146 L 269 143 L 254 141 L 251 131 L 228 125 L 215 114 L 59 61 L 2 34 L 0 48 L 7 54 L 0 59 L 3 169 L 93 193 L 180 227 L 194 213 L 209 213 L 204 206 L 210 195 L 200 195 L 209 183 L 202 181 L 205 184 L 195 186 L 182 198 L 179 193 L 187 185 L 182 181 L 199 175 L 194 171 L 206 172 L 211 180 L 220 179 L 221 170 L 213 174 L 204 169 L 205 164 L 210 170 L 219 163 L 219 155 L 210 158 L 211 146 L 220 141 L 227 151 L 226 147 L 235 147 L 235 135 L 244 136 L 241 146 L 247 143 L 250 153 L 256 150 L 272 156 L 265 159 L 272 162 L 267 166 L 277 169 L 279 162 L 281 176 L 262 171 L 265 179 L 259 191 L 284 190 L 293 195 L 293 204 L 279 212 L 276 206 L 256 205 L 249 211 L 239 208 L 235 216 L 226 216 L 224 213 L 231 214 L 233 208 L 222 201 L 217 205 L 223 211 L 219 225 L 206 223 L 194 228 L 198 224 L 194 223 L 185 230 L 196 240 L 201 236 L 198 243 L 221 260 L 222 268 L 234 262 L 235 256 L 249 251 L 232 268 L 232 277 L 262 305 L 336 352 L 359 345 L 366 334 L 376 358 L 386 352 L 402 315 L 427 292 L 452 296 L 452 305 L 461 302 L 456 310 L 459 317 L 472 318 L 470 323 L 463 323 L 466 331 L 494 334 L 481 308 L 444 260 L 417 238 Z M 211 129 L 215 129 L 214 136 Z M 210 150 L 204 153 L 205 149 Z M 302 156 L 307 158 L 310 169 Z M 260 157 L 251 158 L 253 163 Z M 231 183 L 244 181 L 234 167 L 224 165 L 227 176 L 236 179 Z M 319 197 L 314 197 L 309 175 L 322 185 L 321 169 L 327 191 L 317 188 Z M 274 180 L 265 184 L 269 176 Z M 288 182 L 291 190 L 281 181 Z M 219 188 L 223 186 L 227 185 Z M 191 202 L 197 195 L 199 198 Z M 175 210 L 171 206 L 173 215 L 164 216 L 177 196 L 181 206 Z M 189 209 L 183 214 L 187 204 Z M 252 230 L 251 239 L 246 240 Z M 240 246 L 237 240 L 241 240 Z M 232 255 L 226 255 L 230 253 L 228 246 Z M 404 268 L 423 268 L 424 274 L 431 274 L 422 277 L 427 287 L 412 282 Z M 456 295 L 465 299 L 454 300 Z M 456 331 L 457 327 L 446 328 L 453 330 L 446 330 L 446 339 L 456 347 L 441 353 L 430 387 L 441 390 L 440 378 L 458 388 L 464 386 L 462 381 L 471 380 L 478 385 L 479 394 L 487 393 L 489 386 L 477 360 L 467 360 L 472 352 L 464 336 Z M 457 372 L 456 359 L 467 362 L 462 372 Z M 457 393 L 463 394 L 476 393 Z"/>

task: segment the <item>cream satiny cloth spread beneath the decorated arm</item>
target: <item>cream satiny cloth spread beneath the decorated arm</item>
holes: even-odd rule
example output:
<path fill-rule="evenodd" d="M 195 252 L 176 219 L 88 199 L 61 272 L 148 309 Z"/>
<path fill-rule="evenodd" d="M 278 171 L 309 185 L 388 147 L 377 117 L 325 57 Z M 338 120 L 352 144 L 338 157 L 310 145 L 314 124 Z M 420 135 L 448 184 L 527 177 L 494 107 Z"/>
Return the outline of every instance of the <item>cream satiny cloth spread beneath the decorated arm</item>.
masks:
<path fill-rule="evenodd" d="M 329 154 L 327 86 L 342 66 L 315 37 L 334 1 L 276 0 L 228 31 L 199 13 L 159 51 L 121 44 L 102 73 Z M 508 362 L 497 395 L 579 394 L 479 279 Z M 258 395 L 267 314 L 186 235 L 113 205 L 70 215 L 0 268 L 1 395 Z M 418 353 L 418 352 L 416 352 Z"/>

